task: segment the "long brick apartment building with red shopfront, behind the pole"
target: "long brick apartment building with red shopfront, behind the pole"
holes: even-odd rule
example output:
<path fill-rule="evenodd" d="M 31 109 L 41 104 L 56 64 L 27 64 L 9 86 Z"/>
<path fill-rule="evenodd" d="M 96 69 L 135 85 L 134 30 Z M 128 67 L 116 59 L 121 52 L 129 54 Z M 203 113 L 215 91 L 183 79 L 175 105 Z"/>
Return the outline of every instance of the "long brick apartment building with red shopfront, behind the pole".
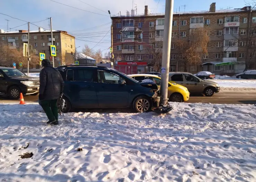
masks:
<path fill-rule="evenodd" d="M 162 48 L 164 14 L 150 14 L 145 6 L 144 14 L 136 15 L 132 10 L 131 14 L 127 12 L 125 16 L 111 18 L 115 68 L 126 74 L 156 71 L 156 58 L 150 50 Z M 251 7 L 216 10 L 216 4 L 212 3 L 209 11 L 174 12 L 170 71 L 185 70 L 177 57 L 175 42 L 179 39 L 191 41 L 189 35 L 195 28 L 209 29 L 208 54 L 202 54 L 201 63 L 189 65 L 187 71 L 240 73 L 245 69 L 246 59 L 252 61 L 249 68 L 255 68 L 255 51 L 247 50 L 256 46 L 256 11 Z"/>

